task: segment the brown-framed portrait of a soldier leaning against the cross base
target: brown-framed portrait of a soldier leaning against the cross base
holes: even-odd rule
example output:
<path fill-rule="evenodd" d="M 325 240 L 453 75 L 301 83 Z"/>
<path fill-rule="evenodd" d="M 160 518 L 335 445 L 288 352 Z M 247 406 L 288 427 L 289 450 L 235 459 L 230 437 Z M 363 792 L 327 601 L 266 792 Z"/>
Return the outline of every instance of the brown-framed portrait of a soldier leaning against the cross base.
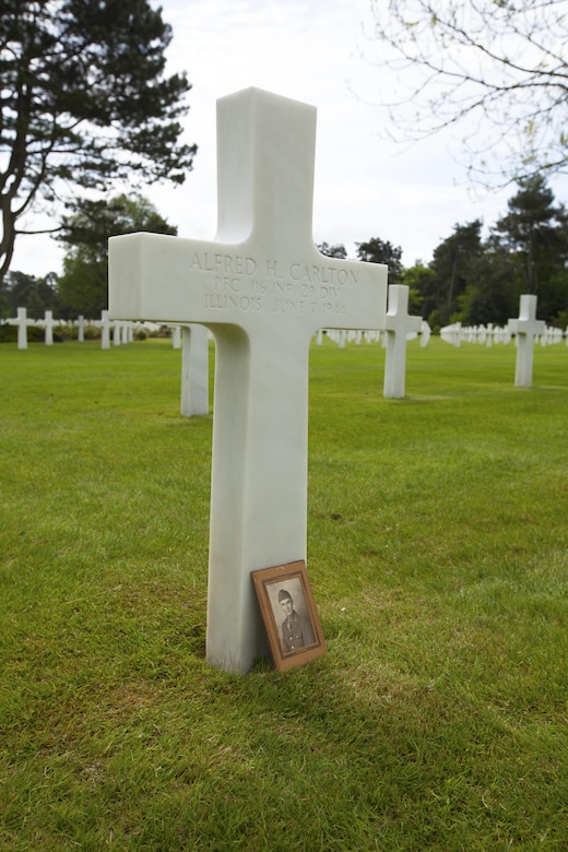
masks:
<path fill-rule="evenodd" d="M 294 668 L 327 653 L 306 564 L 263 568 L 251 577 L 274 666 Z"/>

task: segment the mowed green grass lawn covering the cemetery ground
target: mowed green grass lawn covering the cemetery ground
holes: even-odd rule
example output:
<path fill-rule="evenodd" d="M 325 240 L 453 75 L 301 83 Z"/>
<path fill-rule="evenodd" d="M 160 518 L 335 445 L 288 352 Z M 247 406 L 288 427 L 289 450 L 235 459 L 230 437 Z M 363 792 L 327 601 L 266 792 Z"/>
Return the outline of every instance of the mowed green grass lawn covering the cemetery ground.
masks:
<path fill-rule="evenodd" d="M 240 677 L 179 351 L 2 345 L 0 848 L 567 850 L 568 350 L 514 357 L 312 347 L 329 653 Z"/>

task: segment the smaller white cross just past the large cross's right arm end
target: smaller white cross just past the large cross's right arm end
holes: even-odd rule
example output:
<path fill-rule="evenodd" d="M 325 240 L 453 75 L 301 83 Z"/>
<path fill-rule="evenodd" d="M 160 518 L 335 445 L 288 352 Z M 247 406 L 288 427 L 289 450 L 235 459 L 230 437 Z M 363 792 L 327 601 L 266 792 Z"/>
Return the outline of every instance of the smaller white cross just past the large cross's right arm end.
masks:
<path fill-rule="evenodd" d="M 418 332 L 422 317 L 409 315 L 409 287 L 391 284 L 389 309 L 384 329 L 387 332 L 387 355 L 384 360 L 383 395 L 387 399 L 403 399 L 406 372 L 406 334 Z"/>

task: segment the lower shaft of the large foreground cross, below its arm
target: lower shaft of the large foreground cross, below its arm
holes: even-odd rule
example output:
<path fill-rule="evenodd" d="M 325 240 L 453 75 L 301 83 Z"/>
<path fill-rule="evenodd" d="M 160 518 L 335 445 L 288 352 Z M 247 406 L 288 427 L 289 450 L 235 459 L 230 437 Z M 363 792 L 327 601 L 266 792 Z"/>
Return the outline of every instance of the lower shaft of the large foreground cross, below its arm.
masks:
<path fill-rule="evenodd" d="M 265 652 L 250 571 L 306 558 L 309 338 L 289 344 L 216 334 L 208 661 L 228 671 Z"/>

